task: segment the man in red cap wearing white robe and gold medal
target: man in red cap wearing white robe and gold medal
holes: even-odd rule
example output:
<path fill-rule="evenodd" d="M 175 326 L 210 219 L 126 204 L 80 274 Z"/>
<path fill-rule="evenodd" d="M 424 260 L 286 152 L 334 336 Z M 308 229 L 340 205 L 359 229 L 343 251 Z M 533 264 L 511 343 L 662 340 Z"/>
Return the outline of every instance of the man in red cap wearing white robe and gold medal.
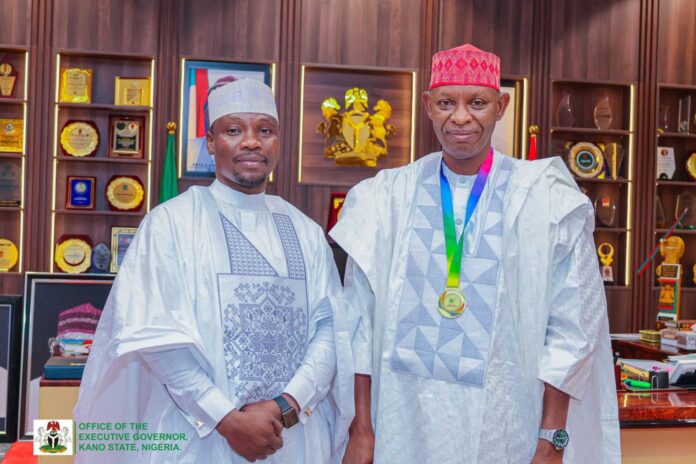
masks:
<path fill-rule="evenodd" d="M 594 210 L 559 158 L 491 148 L 500 59 L 433 57 L 442 145 L 349 193 L 356 416 L 345 464 L 620 462 Z"/>

